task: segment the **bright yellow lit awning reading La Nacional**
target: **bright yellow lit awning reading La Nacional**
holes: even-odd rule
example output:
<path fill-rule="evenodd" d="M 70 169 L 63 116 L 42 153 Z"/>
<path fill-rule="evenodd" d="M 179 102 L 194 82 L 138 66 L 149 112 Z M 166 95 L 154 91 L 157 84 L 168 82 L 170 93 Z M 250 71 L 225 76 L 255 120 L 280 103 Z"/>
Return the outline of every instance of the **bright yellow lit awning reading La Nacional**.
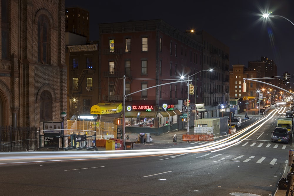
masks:
<path fill-rule="evenodd" d="M 91 114 L 115 114 L 121 112 L 121 103 L 98 103 L 91 107 Z"/>

